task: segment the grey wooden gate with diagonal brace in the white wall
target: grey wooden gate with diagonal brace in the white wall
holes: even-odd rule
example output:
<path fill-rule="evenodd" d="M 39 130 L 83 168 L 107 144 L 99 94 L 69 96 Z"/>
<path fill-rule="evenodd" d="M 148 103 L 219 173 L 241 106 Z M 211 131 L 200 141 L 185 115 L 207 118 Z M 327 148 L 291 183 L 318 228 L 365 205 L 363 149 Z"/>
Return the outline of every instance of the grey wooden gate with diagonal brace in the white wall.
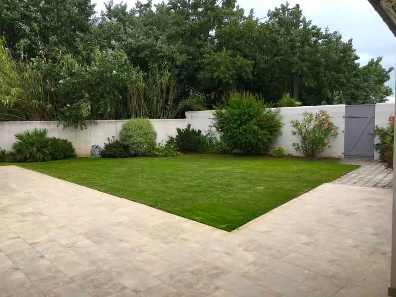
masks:
<path fill-rule="evenodd" d="M 375 105 L 345 106 L 344 158 L 374 160 Z"/>

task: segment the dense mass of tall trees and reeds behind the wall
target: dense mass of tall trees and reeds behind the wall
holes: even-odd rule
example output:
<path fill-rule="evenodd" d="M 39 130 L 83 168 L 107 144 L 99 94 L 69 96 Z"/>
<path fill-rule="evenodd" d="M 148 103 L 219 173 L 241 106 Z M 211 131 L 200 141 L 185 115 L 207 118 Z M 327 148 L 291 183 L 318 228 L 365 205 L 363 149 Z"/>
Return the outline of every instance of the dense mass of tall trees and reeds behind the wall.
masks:
<path fill-rule="evenodd" d="M 90 0 L 2 0 L 0 35 L 0 120 L 180 116 L 233 90 L 276 103 L 296 75 L 303 105 L 392 93 L 381 57 L 359 65 L 352 40 L 287 2 L 260 21 L 236 0 L 110 1 L 100 16 Z"/>

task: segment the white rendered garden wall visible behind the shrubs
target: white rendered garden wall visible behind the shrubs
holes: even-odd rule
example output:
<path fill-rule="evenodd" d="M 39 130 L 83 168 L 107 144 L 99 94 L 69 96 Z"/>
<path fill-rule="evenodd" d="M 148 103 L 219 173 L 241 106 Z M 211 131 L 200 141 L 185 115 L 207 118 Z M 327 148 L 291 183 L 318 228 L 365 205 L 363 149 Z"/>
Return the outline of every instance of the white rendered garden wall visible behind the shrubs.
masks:
<path fill-rule="evenodd" d="M 281 108 L 284 126 L 282 135 L 277 139 L 273 147 L 282 146 L 286 154 L 299 156 L 292 147 L 296 138 L 291 135 L 289 125 L 292 119 L 302 119 L 302 113 L 318 112 L 324 109 L 332 116 L 332 120 L 339 127 L 339 135 L 332 139 L 332 147 L 323 152 L 321 157 L 342 158 L 344 152 L 344 115 L 345 105 L 307 106 L 307 107 L 286 107 Z M 386 127 L 389 115 L 394 113 L 393 103 L 380 103 L 376 105 L 375 124 Z M 186 112 L 185 119 L 164 119 L 150 120 L 157 131 L 157 142 L 166 141 L 168 136 L 175 136 L 177 127 L 185 127 L 191 123 L 193 128 L 203 132 L 210 128 L 212 121 L 212 111 L 189 111 Z M 107 142 L 107 137 L 113 135 L 118 138 L 122 123 L 125 120 L 94 120 L 87 122 L 87 129 L 80 130 L 69 127 L 65 130 L 57 126 L 56 121 L 32 121 L 32 122 L 0 122 L 0 147 L 10 149 L 15 141 L 14 134 L 24 130 L 37 128 L 47 128 L 49 136 L 61 137 L 73 143 L 76 153 L 80 157 L 87 157 L 90 154 L 91 146 L 97 144 L 103 147 Z M 378 140 L 376 140 L 378 141 Z M 375 155 L 378 158 L 378 154 Z"/>

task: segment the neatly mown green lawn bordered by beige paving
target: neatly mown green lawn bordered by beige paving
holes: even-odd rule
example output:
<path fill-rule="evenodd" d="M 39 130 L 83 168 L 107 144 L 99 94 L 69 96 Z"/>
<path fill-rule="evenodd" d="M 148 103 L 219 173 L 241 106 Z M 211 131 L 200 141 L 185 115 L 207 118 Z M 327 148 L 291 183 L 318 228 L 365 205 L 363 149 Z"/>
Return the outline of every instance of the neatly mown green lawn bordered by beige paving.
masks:
<path fill-rule="evenodd" d="M 202 154 L 18 166 L 227 231 L 358 167 L 337 160 Z"/>

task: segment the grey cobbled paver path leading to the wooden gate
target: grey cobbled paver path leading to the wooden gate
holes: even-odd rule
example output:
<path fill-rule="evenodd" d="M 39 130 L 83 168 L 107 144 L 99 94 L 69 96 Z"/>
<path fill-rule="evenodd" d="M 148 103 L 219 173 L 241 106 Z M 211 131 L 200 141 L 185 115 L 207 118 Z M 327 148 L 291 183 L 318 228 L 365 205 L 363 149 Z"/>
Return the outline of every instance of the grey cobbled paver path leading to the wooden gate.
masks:
<path fill-rule="evenodd" d="M 378 187 L 392 189 L 393 171 L 384 167 L 383 162 L 363 160 L 343 160 L 343 164 L 357 164 L 360 168 L 333 181 L 340 185 Z"/>

